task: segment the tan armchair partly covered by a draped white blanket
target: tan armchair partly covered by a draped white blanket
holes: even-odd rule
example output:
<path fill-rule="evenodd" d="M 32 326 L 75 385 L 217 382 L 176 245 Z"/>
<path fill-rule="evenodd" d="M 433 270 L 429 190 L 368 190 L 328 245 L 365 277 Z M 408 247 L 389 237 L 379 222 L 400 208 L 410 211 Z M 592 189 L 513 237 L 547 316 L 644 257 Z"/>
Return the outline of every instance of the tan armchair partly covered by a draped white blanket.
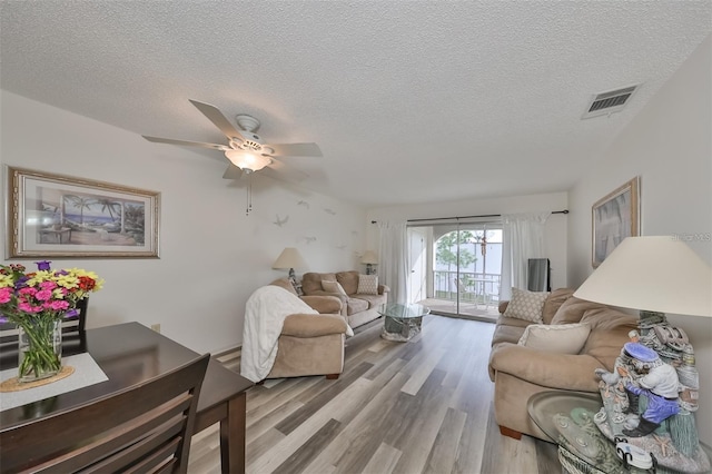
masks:
<path fill-rule="evenodd" d="M 291 283 L 279 278 L 270 285 L 295 296 Z M 267 378 L 326 375 L 338 378 L 344 372 L 346 319 L 340 315 L 342 300 L 334 296 L 303 296 L 319 314 L 294 314 L 285 318 L 277 342 L 277 357 Z"/>

